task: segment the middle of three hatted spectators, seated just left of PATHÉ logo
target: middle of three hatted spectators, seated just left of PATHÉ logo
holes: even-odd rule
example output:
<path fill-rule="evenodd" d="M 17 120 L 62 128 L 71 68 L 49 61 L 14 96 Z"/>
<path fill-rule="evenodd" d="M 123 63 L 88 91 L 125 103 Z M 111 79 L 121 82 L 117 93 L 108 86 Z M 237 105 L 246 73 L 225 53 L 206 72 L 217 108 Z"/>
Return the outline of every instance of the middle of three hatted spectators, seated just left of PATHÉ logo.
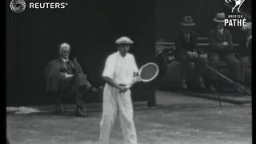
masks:
<path fill-rule="evenodd" d="M 241 62 L 235 57 L 233 39 L 230 30 L 224 26 L 225 14 L 218 13 L 214 22 L 216 27 L 210 30 L 210 62 L 215 69 L 218 68 L 220 59 L 223 59 L 234 72 L 234 81 L 241 82 Z"/>

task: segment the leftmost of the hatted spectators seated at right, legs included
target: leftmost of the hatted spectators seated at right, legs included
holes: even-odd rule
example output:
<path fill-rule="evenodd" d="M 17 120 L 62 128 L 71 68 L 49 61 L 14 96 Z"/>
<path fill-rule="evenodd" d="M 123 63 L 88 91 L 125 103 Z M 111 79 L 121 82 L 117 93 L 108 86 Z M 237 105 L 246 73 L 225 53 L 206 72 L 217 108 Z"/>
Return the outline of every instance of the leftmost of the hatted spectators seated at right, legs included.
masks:
<path fill-rule="evenodd" d="M 182 30 L 175 38 L 176 58 L 182 62 L 182 88 L 187 89 L 186 79 L 189 77 L 188 67 L 190 62 L 194 62 L 201 88 L 205 89 L 207 86 L 210 90 L 215 91 L 214 86 L 209 82 L 205 86 L 206 79 L 209 78 L 209 73 L 206 73 L 206 59 L 198 58 L 196 50 L 198 37 L 196 32 L 192 30 L 195 25 L 196 23 L 193 22 L 193 18 L 186 16 L 183 18 Z"/>

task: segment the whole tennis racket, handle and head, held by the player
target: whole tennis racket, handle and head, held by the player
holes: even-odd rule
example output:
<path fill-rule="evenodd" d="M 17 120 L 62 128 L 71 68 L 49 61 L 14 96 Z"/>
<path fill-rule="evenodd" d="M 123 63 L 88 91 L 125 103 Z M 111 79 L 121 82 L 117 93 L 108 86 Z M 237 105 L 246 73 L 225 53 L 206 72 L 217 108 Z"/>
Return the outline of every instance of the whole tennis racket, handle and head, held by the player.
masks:
<path fill-rule="evenodd" d="M 151 82 L 158 76 L 158 73 L 159 68 L 157 64 L 153 62 L 146 63 L 138 70 L 138 76 L 135 77 L 134 82 L 126 86 L 126 88 L 130 89 L 137 82 Z"/>

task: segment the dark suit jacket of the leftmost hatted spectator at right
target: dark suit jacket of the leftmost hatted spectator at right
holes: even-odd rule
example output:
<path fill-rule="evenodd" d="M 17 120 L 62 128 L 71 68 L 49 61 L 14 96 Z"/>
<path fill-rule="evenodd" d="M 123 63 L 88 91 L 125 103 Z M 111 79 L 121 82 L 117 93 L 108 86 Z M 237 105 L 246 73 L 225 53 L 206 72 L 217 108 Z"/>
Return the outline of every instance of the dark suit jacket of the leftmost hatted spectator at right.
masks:
<path fill-rule="evenodd" d="M 176 55 L 178 57 L 186 54 L 187 51 L 195 51 L 198 43 L 198 37 L 194 30 L 190 32 L 190 41 L 186 40 L 185 34 L 181 31 L 175 38 Z"/>

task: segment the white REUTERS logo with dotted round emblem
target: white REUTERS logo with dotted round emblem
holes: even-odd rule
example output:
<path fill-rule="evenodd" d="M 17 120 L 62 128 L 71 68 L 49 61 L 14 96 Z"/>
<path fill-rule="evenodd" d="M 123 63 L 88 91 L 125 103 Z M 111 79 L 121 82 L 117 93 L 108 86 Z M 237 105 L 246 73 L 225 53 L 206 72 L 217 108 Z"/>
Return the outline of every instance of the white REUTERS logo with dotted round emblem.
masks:
<path fill-rule="evenodd" d="M 68 6 L 66 2 L 27 2 L 29 9 L 65 9 Z M 15 13 L 21 13 L 26 8 L 26 2 L 23 0 L 12 0 L 10 10 Z"/>

